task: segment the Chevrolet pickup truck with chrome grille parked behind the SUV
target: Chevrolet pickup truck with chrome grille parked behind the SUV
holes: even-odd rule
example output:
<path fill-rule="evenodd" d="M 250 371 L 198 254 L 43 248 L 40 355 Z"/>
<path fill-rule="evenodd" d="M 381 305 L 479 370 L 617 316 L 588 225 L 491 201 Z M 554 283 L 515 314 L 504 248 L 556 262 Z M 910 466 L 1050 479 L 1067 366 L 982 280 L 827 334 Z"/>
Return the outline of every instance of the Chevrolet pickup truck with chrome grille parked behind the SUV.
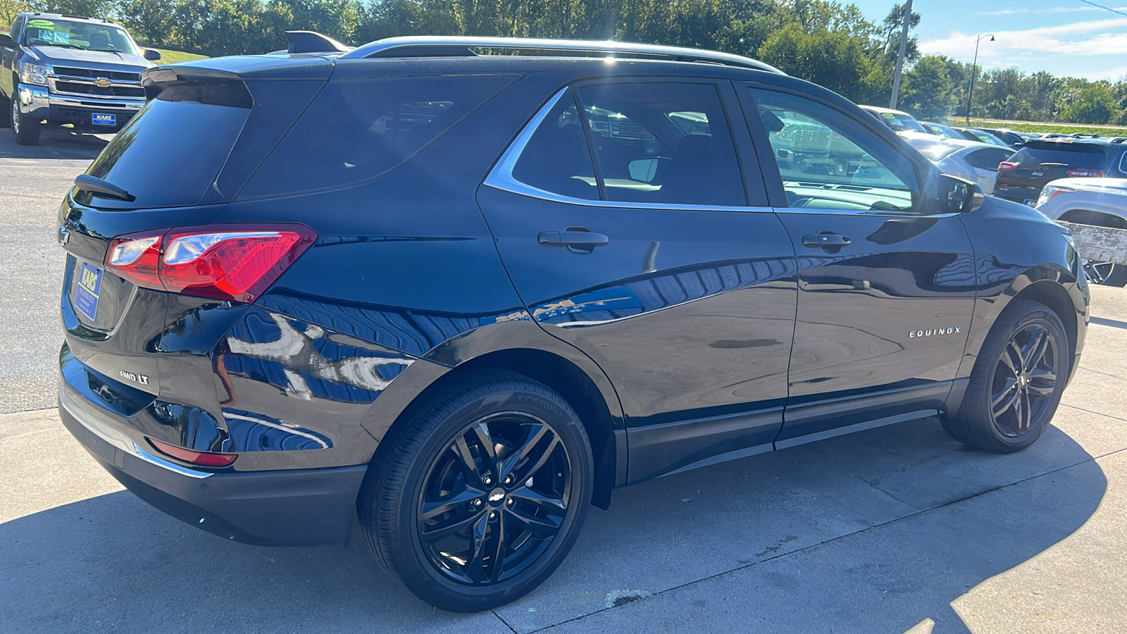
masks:
<path fill-rule="evenodd" d="M 21 146 L 66 123 L 116 132 L 144 106 L 141 71 L 159 59 L 109 20 L 19 14 L 0 33 L 0 125 L 10 121 Z"/>

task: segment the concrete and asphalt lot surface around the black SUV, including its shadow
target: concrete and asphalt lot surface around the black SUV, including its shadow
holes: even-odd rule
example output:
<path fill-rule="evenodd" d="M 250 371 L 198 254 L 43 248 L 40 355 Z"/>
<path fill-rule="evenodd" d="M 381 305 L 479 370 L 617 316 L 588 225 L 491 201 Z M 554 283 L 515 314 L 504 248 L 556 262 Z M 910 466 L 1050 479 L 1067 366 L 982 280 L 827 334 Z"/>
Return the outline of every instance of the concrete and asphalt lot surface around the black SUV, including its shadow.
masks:
<path fill-rule="evenodd" d="M 59 201 L 98 139 L 0 132 L 0 632 L 1094 632 L 1127 623 L 1127 290 L 1093 289 L 1054 425 L 924 419 L 616 491 L 530 596 L 436 610 L 346 546 L 224 541 L 134 497 L 54 404 Z M 44 153 L 37 153 L 44 152 Z M 85 152 L 85 153 L 83 153 Z M 55 153 L 62 156 L 54 156 Z M 10 238 L 11 239 L 11 238 Z"/>

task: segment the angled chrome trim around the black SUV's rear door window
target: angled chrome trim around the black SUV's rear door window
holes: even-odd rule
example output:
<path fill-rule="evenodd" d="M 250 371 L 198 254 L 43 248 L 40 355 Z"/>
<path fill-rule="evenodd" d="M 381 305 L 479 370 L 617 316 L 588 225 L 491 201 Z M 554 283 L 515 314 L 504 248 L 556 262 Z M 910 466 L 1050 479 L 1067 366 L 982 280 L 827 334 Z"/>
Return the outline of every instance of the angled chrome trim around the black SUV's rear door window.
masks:
<path fill-rule="evenodd" d="M 524 151 L 525 146 L 532 139 L 536 129 L 540 124 L 544 122 L 548 114 L 552 112 L 552 108 L 559 104 L 560 99 L 568 94 L 570 87 L 562 88 L 559 93 L 552 96 L 540 111 L 536 112 L 535 116 L 521 130 L 521 133 L 516 135 L 516 139 L 509 143 L 508 148 L 505 149 L 505 153 L 500 156 L 500 160 L 497 165 L 489 171 L 482 185 L 492 187 L 495 190 L 500 190 L 503 192 L 508 192 L 511 194 L 517 194 L 521 196 L 529 196 L 532 199 L 539 199 L 542 201 L 550 201 L 556 203 L 574 204 L 582 206 L 602 206 L 612 209 L 653 209 L 653 210 L 665 210 L 665 211 L 739 211 L 739 212 L 760 212 L 760 213 L 771 213 L 773 210 L 769 206 L 726 206 L 726 205 L 698 205 L 698 204 L 664 204 L 664 203 L 645 203 L 645 202 L 632 202 L 632 201 L 602 201 L 602 200 L 587 200 L 587 199 L 576 199 L 571 196 L 565 196 L 562 194 L 557 194 L 554 192 L 549 192 L 547 190 L 541 190 L 540 187 L 533 187 L 532 185 L 526 185 L 515 177 L 513 177 L 513 169 L 516 167 L 516 161 L 521 158 L 521 152 Z"/>

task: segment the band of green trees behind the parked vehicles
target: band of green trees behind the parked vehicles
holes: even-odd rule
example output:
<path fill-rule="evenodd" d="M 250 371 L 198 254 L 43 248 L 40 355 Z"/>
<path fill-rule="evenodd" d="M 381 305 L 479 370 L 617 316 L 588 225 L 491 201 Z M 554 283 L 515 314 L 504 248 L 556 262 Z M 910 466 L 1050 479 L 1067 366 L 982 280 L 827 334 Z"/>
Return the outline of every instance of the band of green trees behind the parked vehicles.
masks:
<path fill-rule="evenodd" d="M 862 104 L 886 105 L 904 5 L 880 23 L 838 0 L 30 0 L 35 10 L 119 20 L 139 42 L 203 55 L 265 53 L 285 32 L 311 29 L 346 44 L 394 35 L 615 38 L 757 56 Z M 9 20 L 24 0 L 0 0 Z M 909 26 L 920 23 L 913 12 Z M 902 107 L 923 117 L 967 114 L 1037 121 L 1127 123 L 1127 82 L 1093 82 L 971 69 L 920 56 L 906 43 Z"/>

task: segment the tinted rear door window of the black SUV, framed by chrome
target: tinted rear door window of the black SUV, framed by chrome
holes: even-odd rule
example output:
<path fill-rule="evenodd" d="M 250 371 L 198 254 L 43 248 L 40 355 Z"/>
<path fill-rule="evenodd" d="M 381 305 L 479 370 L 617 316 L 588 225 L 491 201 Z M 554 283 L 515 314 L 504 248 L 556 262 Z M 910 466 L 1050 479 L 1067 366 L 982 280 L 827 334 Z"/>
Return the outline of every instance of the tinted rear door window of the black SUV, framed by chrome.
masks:
<path fill-rule="evenodd" d="M 574 90 L 529 139 L 513 178 L 582 200 L 747 204 L 727 117 L 710 83 Z"/>

